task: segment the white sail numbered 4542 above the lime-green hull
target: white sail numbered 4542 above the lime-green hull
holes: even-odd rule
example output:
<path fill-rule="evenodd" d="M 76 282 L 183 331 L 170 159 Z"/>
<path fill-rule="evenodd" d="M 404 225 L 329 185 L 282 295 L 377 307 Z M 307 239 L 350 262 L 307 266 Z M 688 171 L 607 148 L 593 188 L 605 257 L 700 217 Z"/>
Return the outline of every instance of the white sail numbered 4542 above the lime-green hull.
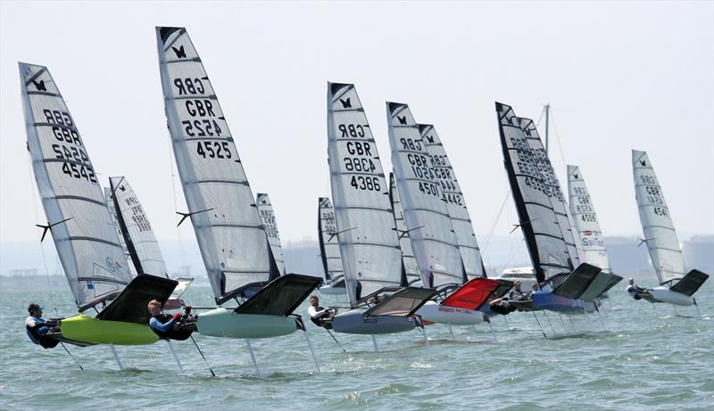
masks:
<path fill-rule="evenodd" d="M 83 311 L 131 281 L 102 186 L 46 67 L 20 63 L 22 108 L 37 187 L 72 294 Z"/>

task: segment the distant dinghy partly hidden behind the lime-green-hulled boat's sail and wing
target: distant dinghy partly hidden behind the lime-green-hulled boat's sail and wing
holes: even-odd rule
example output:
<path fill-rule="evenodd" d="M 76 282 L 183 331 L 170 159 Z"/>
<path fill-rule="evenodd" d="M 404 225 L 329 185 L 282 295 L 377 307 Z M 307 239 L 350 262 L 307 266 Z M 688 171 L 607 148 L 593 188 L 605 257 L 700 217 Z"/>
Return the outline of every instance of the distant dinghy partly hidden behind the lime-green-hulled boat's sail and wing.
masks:
<path fill-rule="evenodd" d="M 109 197 L 112 217 L 117 224 L 120 241 L 137 275 L 150 274 L 170 278 L 162 250 L 156 240 L 156 234 L 144 212 L 134 189 L 126 177 L 109 177 Z M 181 294 L 186 291 L 193 278 L 176 278 L 179 284 L 171 293 L 163 309 L 179 309 L 185 304 Z"/>

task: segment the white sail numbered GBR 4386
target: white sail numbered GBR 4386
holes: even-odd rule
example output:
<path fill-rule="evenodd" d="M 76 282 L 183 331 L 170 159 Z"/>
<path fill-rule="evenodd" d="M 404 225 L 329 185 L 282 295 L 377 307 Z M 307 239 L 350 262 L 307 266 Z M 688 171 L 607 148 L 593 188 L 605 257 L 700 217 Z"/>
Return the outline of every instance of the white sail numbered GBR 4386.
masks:
<path fill-rule="evenodd" d="M 361 296 L 402 280 L 402 251 L 367 117 L 351 84 L 328 83 L 328 157 L 347 294 Z"/>

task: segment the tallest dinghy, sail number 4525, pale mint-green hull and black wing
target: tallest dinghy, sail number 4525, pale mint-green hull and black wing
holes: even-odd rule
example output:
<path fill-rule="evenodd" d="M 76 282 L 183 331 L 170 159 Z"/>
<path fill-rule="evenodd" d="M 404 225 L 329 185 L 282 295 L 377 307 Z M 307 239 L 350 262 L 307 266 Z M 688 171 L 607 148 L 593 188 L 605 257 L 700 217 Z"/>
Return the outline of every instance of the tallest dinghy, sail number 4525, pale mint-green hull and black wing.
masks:
<path fill-rule="evenodd" d="M 280 275 L 236 144 L 186 29 L 158 27 L 165 111 L 188 212 L 216 303 L 198 332 L 270 338 L 304 330 L 292 316 L 319 277 Z M 182 219 L 182 221 L 183 221 Z M 180 222 L 179 222 L 180 224 Z"/>

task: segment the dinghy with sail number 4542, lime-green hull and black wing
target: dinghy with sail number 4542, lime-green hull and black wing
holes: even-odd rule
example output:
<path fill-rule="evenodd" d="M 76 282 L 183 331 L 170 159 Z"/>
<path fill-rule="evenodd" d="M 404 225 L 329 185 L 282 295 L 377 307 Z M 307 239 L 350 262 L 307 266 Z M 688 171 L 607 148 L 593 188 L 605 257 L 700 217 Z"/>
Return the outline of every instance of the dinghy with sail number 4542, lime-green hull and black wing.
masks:
<path fill-rule="evenodd" d="M 28 150 L 47 218 L 42 239 L 52 234 L 79 308 L 47 337 L 79 346 L 158 341 L 146 306 L 165 302 L 177 282 L 132 279 L 84 140 L 49 70 L 21 62 L 20 78 Z M 88 315 L 91 308 L 96 316 Z"/>

